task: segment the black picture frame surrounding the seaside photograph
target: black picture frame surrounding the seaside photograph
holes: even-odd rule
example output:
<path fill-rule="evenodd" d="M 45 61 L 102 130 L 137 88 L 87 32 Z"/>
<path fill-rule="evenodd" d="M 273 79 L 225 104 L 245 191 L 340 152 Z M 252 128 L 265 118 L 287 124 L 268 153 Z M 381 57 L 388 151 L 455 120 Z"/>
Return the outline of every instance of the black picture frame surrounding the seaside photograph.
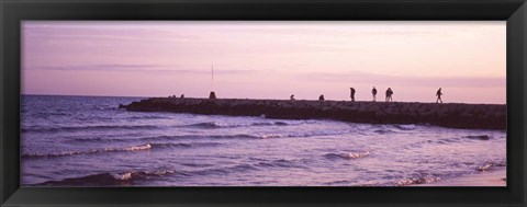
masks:
<path fill-rule="evenodd" d="M 20 187 L 23 20 L 506 21 L 507 187 Z M 1 0 L 0 25 L 1 206 L 527 205 L 525 0 Z"/>

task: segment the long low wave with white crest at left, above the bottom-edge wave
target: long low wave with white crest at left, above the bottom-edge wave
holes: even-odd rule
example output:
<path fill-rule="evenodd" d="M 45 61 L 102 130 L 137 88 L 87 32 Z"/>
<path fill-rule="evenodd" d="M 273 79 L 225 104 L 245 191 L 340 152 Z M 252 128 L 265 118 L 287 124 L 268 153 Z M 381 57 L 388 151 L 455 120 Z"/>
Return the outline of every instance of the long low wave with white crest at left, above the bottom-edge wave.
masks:
<path fill-rule="evenodd" d="M 130 151 L 145 151 L 152 149 L 172 149 L 172 148 L 192 148 L 192 147 L 214 147 L 221 143 L 215 142 L 193 142 L 193 143 L 145 143 L 139 146 L 131 146 L 125 148 L 104 148 L 87 151 L 65 151 L 57 153 L 24 153 L 22 158 L 56 158 L 67 156 L 80 156 L 80 154 L 97 154 L 106 152 L 130 152 Z"/>

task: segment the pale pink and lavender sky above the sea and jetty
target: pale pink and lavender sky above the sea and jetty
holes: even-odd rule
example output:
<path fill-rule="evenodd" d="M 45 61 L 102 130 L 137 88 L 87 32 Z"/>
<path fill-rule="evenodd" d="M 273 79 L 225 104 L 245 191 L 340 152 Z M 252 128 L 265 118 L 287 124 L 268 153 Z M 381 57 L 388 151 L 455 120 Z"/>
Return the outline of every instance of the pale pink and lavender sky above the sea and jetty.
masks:
<path fill-rule="evenodd" d="M 505 21 L 24 21 L 22 93 L 506 101 Z M 212 66 L 214 82 L 212 83 Z"/>

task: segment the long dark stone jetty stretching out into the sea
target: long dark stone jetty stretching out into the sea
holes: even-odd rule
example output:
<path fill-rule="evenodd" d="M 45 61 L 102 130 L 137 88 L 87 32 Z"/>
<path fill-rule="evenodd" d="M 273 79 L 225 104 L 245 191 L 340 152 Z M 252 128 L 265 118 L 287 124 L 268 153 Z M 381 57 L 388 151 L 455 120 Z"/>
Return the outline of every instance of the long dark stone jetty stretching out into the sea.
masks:
<path fill-rule="evenodd" d="M 505 104 L 349 102 L 306 100 L 150 97 L 131 112 L 265 116 L 281 119 L 333 119 L 368 124 L 429 124 L 463 129 L 506 129 Z"/>

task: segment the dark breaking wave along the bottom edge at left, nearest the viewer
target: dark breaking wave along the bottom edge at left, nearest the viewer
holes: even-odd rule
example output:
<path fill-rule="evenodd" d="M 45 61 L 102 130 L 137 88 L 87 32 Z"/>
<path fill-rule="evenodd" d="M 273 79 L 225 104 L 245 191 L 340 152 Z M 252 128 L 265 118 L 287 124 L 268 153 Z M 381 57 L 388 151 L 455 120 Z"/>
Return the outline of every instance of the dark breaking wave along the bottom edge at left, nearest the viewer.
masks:
<path fill-rule="evenodd" d="M 175 173 L 175 171 L 138 171 L 124 173 L 99 173 L 87 176 L 69 177 L 60 181 L 46 181 L 35 186 L 122 186 L 134 185 L 141 180 L 162 177 Z"/>

